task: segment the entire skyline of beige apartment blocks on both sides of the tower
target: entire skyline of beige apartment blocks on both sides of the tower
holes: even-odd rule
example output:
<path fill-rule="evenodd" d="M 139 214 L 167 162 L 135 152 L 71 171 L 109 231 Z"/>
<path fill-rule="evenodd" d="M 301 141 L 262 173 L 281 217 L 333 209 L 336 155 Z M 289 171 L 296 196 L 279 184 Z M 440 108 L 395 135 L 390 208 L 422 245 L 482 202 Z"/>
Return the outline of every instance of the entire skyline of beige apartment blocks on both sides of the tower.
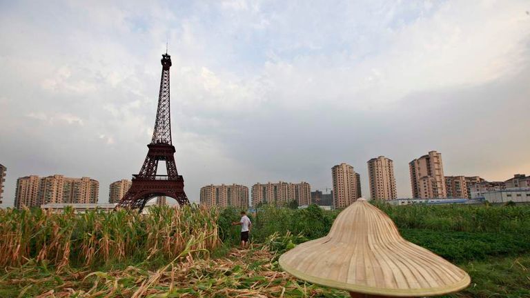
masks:
<path fill-rule="evenodd" d="M 393 161 L 384 156 L 367 161 L 371 199 L 397 199 Z M 516 174 L 507 181 L 485 181 L 478 176 L 444 176 L 442 155 L 431 151 L 409 163 L 413 198 L 484 198 L 487 192 L 513 188 L 530 188 L 530 177 Z M 0 164 L 0 203 L 7 168 Z M 251 188 L 252 206 L 272 203 L 281 206 L 297 201 L 299 206 L 318 203 L 322 206 L 346 208 L 362 196 L 360 175 L 346 163 L 331 168 L 333 188 L 331 195 L 320 190 L 311 192 L 309 183 L 256 183 Z M 109 187 L 109 203 L 117 203 L 130 188 L 130 180 L 115 181 Z M 63 175 L 17 179 L 14 206 L 41 206 L 47 203 L 97 203 L 99 182 L 90 177 L 69 178 Z M 237 184 L 204 186 L 200 202 L 208 206 L 249 206 L 248 188 Z M 166 198 L 157 198 L 165 204 Z"/>

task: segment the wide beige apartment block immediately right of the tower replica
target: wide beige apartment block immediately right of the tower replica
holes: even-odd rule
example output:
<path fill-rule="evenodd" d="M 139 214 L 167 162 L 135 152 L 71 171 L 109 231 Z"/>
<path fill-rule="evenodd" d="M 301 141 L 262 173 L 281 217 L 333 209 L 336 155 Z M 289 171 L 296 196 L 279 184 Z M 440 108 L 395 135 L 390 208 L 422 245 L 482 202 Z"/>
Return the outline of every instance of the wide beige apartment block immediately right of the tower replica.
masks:
<path fill-rule="evenodd" d="M 248 208 L 248 187 L 239 184 L 213 185 L 201 188 L 200 203 L 205 206 Z"/>

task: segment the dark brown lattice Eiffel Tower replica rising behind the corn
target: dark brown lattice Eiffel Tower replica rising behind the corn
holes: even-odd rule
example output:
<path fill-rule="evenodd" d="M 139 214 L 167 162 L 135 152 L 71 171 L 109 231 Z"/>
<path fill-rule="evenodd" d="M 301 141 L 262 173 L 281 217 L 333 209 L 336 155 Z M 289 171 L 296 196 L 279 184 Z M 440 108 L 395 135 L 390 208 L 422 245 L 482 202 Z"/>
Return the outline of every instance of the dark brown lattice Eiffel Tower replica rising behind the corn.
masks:
<path fill-rule="evenodd" d="M 180 206 L 190 203 L 184 192 L 184 178 L 177 172 L 175 147 L 171 143 L 171 121 L 169 113 L 169 68 L 171 57 L 162 54 L 162 76 L 158 95 L 157 119 L 151 143 L 147 146 L 144 165 L 138 175 L 133 175 L 133 184 L 119 201 L 116 208 L 139 209 L 141 212 L 147 201 L 153 197 L 172 197 Z M 168 175 L 157 175 L 159 161 L 166 161 Z"/>

